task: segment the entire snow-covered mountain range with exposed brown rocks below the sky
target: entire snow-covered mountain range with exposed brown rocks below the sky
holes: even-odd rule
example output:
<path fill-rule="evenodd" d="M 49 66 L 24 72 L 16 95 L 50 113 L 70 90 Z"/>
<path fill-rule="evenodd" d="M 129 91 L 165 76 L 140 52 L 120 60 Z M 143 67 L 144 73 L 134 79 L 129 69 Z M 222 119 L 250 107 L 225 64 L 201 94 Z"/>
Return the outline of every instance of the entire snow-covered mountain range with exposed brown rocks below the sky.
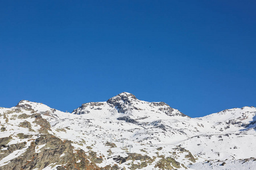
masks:
<path fill-rule="evenodd" d="M 123 92 L 72 113 L 0 108 L 0 169 L 255 169 L 256 108 L 191 118 Z"/>

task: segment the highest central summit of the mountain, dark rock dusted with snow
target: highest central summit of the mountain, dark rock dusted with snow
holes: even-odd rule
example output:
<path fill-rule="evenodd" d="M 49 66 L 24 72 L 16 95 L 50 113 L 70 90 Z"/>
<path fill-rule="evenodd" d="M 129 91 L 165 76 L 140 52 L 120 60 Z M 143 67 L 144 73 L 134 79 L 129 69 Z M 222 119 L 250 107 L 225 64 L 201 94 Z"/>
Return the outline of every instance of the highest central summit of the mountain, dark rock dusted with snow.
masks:
<path fill-rule="evenodd" d="M 96 111 L 97 110 L 97 111 Z M 109 114 L 110 117 L 129 116 L 134 120 L 142 120 L 145 118 L 168 116 L 188 117 L 177 109 L 171 108 L 164 102 L 147 102 L 137 99 L 133 94 L 122 92 L 106 102 L 91 102 L 82 104 L 81 107 L 75 109 L 73 114 L 97 114 L 102 116 L 102 111 Z M 97 112 L 97 113 L 96 113 Z"/>

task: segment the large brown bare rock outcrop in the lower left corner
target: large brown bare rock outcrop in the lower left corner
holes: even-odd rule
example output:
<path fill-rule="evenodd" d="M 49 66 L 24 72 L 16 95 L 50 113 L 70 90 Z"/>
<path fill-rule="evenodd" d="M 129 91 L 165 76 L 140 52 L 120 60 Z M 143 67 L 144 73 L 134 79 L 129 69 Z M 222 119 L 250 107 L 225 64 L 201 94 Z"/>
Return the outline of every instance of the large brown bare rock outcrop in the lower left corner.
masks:
<path fill-rule="evenodd" d="M 6 143 L 7 138 L 0 138 L 0 141 Z M 21 150 L 26 147 L 26 144 L 26 142 L 23 142 L 10 145 L 6 151 L 1 151 L 0 156 L 5 157 L 15 150 Z M 38 150 L 40 146 L 43 147 Z M 100 169 L 95 163 L 90 162 L 89 158 L 90 156 L 86 155 L 82 150 L 73 153 L 71 141 L 62 141 L 54 135 L 45 134 L 35 139 L 34 142 L 31 142 L 30 146 L 28 146 L 27 150 L 22 155 L 10 160 L 8 164 L 3 165 L 0 169 L 43 169 L 50 164 L 52 164 L 52 167 L 59 165 L 57 169 Z M 100 160 L 100 158 L 94 159 L 96 163 Z M 80 160 L 80 162 L 77 162 L 77 160 Z"/>

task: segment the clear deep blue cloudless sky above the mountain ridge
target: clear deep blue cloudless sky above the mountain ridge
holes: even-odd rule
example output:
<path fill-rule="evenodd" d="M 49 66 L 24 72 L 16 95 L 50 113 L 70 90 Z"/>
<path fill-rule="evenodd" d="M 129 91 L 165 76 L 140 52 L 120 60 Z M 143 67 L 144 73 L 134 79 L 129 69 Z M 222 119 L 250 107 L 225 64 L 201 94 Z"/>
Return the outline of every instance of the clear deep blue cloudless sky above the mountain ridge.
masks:
<path fill-rule="evenodd" d="M 255 1 L 2 1 L 0 107 L 123 91 L 191 117 L 254 106 Z"/>

